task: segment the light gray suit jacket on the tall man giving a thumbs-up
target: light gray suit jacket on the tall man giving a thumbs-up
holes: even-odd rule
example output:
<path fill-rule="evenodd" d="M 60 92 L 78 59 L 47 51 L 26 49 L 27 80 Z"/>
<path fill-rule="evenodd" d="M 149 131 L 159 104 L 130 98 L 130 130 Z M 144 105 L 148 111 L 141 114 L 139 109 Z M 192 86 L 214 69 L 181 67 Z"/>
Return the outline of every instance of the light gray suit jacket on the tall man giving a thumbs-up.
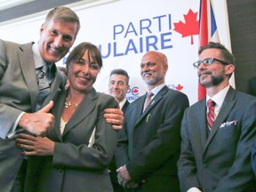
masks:
<path fill-rule="evenodd" d="M 20 169 L 23 156 L 15 138 L 5 138 L 22 111 L 35 112 L 38 95 L 32 44 L 0 40 L 0 188 L 8 192 Z M 57 72 L 45 103 L 58 96 L 64 78 Z"/>

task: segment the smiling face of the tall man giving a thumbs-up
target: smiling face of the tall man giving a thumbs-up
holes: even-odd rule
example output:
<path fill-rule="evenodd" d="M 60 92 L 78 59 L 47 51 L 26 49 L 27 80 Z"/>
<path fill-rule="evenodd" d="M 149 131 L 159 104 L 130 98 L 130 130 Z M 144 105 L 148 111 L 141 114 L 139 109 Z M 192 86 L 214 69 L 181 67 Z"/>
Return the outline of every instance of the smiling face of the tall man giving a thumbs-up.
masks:
<path fill-rule="evenodd" d="M 77 23 L 65 20 L 49 20 L 40 28 L 39 52 L 47 62 L 61 60 L 76 40 Z"/>

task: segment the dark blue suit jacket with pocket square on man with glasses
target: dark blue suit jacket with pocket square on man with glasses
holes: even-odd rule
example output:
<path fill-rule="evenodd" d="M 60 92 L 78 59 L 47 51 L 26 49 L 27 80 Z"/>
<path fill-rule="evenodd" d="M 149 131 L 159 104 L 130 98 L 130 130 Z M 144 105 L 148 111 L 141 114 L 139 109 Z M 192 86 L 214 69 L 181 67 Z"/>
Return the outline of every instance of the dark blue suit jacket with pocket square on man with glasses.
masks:
<path fill-rule="evenodd" d="M 256 137 L 256 99 L 232 87 L 207 137 L 206 101 L 185 112 L 181 125 L 180 188 L 250 191 L 251 150 Z"/>

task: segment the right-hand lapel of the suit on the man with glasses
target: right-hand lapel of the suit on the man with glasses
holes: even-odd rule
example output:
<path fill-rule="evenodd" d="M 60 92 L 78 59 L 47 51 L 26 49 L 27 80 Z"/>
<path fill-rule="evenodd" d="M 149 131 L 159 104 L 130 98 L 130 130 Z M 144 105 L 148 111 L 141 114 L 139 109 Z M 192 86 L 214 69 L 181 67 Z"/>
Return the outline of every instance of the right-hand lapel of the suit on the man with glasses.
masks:
<path fill-rule="evenodd" d="M 235 95 L 236 95 L 236 91 L 232 87 L 230 87 L 229 90 L 228 90 L 228 93 L 226 95 L 226 98 L 223 101 L 223 104 L 220 108 L 219 115 L 217 116 L 214 124 L 212 125 L 212 131 L 209 133 L 209 137 L 208 137 L 208 140 L 206 142 L 204 151 L 206 150 L 206 148 L 211 143 L 211 141 L 214 138 L 216 132 L 219 131 L 220 125 L 225 121 L 225 119 L 227 119 L 227 116 L 228 116 L 229 112 L 234 107 L 234 105 L 236 103 Z"/>

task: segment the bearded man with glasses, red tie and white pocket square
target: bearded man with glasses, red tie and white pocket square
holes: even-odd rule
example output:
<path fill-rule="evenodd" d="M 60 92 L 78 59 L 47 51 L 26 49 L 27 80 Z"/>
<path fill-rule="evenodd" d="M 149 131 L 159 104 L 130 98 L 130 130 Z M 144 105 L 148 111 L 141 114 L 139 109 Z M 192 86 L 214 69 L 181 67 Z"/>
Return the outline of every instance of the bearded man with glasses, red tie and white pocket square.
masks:
<path fill-rule="evenodd" d="M 207 95 L 186 109 L 182 119 L 181 191 L 252 191 L 256 99 L 229 85 L 235 58 L 222 44 L 201 47 L 194 67 Z M 207 108 L 208 100 L 212 107 Z"/>

